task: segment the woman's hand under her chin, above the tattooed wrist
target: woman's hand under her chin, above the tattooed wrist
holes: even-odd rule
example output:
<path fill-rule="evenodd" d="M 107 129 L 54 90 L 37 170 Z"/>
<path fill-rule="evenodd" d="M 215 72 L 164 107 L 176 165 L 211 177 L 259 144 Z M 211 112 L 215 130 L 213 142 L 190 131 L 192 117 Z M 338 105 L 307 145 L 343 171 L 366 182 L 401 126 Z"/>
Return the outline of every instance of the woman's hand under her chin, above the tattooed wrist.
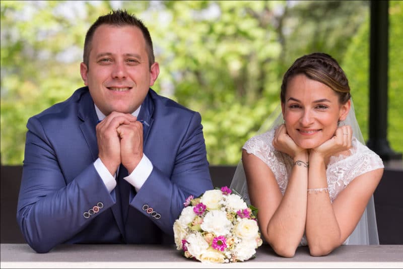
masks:
<path fill-rule="evenodd" d="M 274 135 L 273 147 L 283 153 L 295 158 L 299 155 L 307 155 L 308 151 L 295 144 L 294 140 L 288 135 L 286 125 L 280 125 Z"/>

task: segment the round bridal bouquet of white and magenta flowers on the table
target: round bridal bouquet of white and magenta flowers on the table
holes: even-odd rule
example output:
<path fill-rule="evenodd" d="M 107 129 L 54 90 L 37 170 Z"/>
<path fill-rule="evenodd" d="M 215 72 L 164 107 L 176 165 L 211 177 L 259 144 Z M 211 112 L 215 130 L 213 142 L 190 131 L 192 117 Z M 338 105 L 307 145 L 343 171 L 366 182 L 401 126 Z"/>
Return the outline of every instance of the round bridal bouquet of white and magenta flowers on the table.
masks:
<path fill-rule="evenodd" d="M 262 244 L 257 209 L 227 186 L 190 195 L 173 225 L 175 244 L 187 258 L 236 262 L 254 258 Z"/>

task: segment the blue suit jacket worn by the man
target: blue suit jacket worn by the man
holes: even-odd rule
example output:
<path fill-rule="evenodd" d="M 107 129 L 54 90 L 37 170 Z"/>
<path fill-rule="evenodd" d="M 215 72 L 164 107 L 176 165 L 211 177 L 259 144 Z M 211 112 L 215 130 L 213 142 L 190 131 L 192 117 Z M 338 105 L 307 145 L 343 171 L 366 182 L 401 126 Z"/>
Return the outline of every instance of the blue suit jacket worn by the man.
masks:
<path fill-rule="evenodd" d="M 98 118 L 87 87 L 28 120 L 17 221 L 35 251 L 59 243 L 174 243 L 186 197 L 213 188 L 200 114 L 150 89 L 138 119 L 148 123 L 144 153 L 154 166 L 138 193 L 124 180 L 109 193 L 93 165 Z"/>

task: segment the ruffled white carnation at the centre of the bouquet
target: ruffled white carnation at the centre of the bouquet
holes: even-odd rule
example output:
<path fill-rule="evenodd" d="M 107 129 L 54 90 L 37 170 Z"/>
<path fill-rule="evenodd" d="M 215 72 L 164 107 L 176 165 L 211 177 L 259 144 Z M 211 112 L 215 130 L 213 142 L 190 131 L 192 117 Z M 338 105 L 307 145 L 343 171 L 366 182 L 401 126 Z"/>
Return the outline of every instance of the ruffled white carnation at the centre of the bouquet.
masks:
<path fill-rule="evenodd" d="M 203 231 L 214 233 L 216 236 L 229 234 L 231 230 L 231 221 L 227 214 L 220 210 L 208 212 L 200 225 Z"/>

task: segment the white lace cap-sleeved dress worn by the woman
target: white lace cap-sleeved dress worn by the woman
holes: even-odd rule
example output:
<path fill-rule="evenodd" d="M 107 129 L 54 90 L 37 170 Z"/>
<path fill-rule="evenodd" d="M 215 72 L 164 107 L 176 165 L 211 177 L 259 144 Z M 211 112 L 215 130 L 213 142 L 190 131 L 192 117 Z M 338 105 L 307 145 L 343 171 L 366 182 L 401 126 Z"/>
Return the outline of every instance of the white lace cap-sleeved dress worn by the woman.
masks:
<path fill-rule="evenodd" d="M 293 167 L 293 160 L 289 155 L 274 149 L 272 144 L 274 132 L 275 130 L 273 129 L 250 138 L 243 146 L 243 149 L 257 156 L 270 167 L 284 195 L 287 188 L 288 177 Z M 378 168 L 383 168 L 382 159 L 367 146 L 353 138 L 350 155 L 330 157 L 327 165 L 326 177 L 331 202 L 333 203 L 337 195 L 354 178 Z M 242 193 L 242 195 L 244 194 L 245 193 Z M 300 245 L 307 245 L 305 235 Z"/>

